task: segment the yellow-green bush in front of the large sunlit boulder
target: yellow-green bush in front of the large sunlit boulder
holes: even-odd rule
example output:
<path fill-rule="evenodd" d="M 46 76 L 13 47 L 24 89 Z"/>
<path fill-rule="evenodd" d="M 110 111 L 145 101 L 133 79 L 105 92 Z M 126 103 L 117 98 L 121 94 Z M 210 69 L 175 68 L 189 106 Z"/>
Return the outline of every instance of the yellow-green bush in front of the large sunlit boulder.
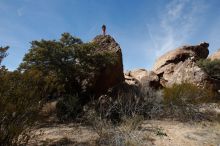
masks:
<path fill-rule="evenodd" d="M 198 103 L 211 101 L 214 93 L 190 83 L 175 84 L 164 88 L 164 117 L 181 121 L 201 121 L 208 116 L 199 111 Z"/>

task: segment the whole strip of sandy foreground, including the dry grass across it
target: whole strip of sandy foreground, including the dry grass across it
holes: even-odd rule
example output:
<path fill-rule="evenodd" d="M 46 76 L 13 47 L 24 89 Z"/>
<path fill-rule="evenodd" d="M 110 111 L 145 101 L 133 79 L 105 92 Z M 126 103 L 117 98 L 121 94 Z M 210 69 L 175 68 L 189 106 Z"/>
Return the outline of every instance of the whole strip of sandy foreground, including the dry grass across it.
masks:
<path fill-rule="evenodd" d="M 215 104 L 202 105 L 200 109 L 220 113 Z M 29 146 L 220 146 L 220 121 L 144 120 L 135 126 L 124 124 L 110 128 L 105 124 L 89 126 L 51 121 L 32 129 L 29 135 Z"/>

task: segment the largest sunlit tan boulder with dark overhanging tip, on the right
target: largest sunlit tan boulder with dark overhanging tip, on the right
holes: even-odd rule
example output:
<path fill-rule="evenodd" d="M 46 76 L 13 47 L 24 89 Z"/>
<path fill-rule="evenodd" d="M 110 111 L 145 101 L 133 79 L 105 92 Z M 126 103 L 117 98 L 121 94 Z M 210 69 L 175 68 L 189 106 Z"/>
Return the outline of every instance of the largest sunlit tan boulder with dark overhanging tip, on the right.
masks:
<path fill-rule="evenodd" d="M 209 76 L 196 65 L 199 59 L 207 58 L 208 43 L 196 46 L 183 46 L 172 50 L 157 59 L 153 71 L 160 78 L 160 84 L 170 87 L 173 84 L 190 82 L 206 87 L 210 84 Z"/>

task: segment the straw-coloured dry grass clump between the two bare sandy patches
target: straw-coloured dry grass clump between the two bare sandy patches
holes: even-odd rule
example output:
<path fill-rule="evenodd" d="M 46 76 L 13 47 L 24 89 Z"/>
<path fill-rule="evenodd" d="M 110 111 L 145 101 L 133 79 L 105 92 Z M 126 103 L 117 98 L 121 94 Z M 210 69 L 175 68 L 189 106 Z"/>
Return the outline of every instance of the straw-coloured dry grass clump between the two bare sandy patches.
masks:
<path fill-rule="evenodd" d="M 133 146 L 148 145 L 143 140 L 143 135 L 138 131 L 144 118 L 134 116 L 122 118 L 122 121 L 114 125 L 106 119 L 93 119 L 93 129 L 99 135 L 96 145 Z"/>

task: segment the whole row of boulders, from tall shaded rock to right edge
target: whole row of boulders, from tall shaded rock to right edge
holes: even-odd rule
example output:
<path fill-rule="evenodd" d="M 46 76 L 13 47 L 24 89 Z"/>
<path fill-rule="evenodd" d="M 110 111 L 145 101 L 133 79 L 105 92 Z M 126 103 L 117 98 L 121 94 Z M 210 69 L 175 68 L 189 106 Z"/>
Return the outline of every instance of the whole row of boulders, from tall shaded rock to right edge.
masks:
<path fill-rule="evenodd" d="M 209 54 L 209 44 L 206 42 L 169 51 L 156 60 L 152 71 L 137 69 L 125 74 L 123 74 L 121 48 L 111 36 L 99 35 L 92 42 L 97 43 L 99 46 L 96 51 L 107 50 L 117 58 L 116 64 L 106 66 L 98 74 L 94 84 L 95 91 L 98 93 L 105 92 L 108 88 L 114 87 L 123 81 L 126 81 L 129 85 L 149 86 L 154 89 L 162 86 L 170 87 L 173 84 L 183 82 L 190 82 L 200 87 L 216 87 L 216 81 L 213 81 L 196 63 L 197 60 L 206 59 Z M 209 58 L 219 58 L 219 54 L 220 51 Z"/>

